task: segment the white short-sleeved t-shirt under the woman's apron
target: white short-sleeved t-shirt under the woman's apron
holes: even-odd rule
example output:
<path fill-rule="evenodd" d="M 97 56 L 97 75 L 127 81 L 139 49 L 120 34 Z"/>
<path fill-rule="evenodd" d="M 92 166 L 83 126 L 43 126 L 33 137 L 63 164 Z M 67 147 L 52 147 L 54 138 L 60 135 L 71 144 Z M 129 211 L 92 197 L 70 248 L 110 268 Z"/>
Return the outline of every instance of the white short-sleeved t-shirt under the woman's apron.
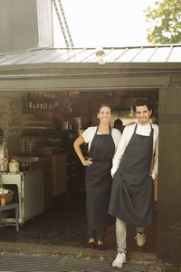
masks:
<path fill-rule="evenodd" d="M 81 136 L 84 138 L 84 141 L 88 143 L 89 150 L 90 150 L 91 141 L 93 140 L 96 130 L 97 130 L 97 127 L 89 127 L 86 131 L 83 131 L 83 133 L 81 134 Z M 101 134 L 100 131 L 98 131 L 98 134 Z M 119 130 L 113 128 L 111 131 L 111 135 L 115 144 L 115 151 L 116 151 L 119 145 L 121 133 Z"/>

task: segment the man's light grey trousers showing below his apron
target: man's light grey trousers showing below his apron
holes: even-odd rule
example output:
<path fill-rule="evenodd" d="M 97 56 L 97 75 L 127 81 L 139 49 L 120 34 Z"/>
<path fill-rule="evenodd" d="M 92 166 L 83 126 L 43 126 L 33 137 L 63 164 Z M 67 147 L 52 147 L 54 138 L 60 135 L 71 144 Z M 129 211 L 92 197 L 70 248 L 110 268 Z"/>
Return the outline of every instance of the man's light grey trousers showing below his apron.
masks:
<path fill-rule="evenodd" d="M 136 228 L 137 232 L 144 233 L 144 228 Z M 119 253 L 127 252 L 127 225 L 120 219 L 116 219 L 116 239 Z"/>

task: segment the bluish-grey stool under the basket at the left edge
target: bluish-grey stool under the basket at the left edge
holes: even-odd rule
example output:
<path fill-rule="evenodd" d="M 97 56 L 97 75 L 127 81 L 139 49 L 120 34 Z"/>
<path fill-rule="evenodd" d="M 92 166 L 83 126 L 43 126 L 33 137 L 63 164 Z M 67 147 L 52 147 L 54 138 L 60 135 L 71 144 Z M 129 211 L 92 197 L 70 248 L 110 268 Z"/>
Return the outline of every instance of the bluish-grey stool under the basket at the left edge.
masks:
<path fill-rule="evenodd" d="M 15 209 L 15 223 L 2 223 L 2 213 L 3 210 Z M 0 228 L 5 226 L 14 226 L 16 231 L 19 231 L 19 204 L 10 203 L 5 204 L 5 206 L 0 206 Z"/>

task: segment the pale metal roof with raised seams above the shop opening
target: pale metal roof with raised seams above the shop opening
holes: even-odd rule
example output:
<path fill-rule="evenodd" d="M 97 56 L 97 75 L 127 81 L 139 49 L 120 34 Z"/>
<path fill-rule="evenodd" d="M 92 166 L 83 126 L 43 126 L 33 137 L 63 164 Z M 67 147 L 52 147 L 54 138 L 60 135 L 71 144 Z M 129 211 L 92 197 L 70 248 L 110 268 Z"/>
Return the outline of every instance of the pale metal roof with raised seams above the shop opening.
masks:
<path fill-rule="evenodd" d="M 181 44 L 104 47 L 105 63 L 181 63 Z M 33 48 L 0 53 L 0 65 L 32 63 L 98 63 L 95 48 Z"/>

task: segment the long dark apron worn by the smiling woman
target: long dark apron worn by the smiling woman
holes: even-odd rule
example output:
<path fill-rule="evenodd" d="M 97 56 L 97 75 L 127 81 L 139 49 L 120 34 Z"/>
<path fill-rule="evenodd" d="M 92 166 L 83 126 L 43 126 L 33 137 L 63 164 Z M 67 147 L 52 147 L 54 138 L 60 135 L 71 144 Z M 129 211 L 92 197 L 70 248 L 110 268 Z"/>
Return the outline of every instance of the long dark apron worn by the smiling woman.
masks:
<path fill-rule="evenodd" d="M 89 158 L 93 163 L 86 167 L 86 207 L 90 229 L 104 228 L 115 222 L 108 213 L 112 178 L 110 169 L 115 144 L 110 134 L 97 134 L 90 145 Z"/>

